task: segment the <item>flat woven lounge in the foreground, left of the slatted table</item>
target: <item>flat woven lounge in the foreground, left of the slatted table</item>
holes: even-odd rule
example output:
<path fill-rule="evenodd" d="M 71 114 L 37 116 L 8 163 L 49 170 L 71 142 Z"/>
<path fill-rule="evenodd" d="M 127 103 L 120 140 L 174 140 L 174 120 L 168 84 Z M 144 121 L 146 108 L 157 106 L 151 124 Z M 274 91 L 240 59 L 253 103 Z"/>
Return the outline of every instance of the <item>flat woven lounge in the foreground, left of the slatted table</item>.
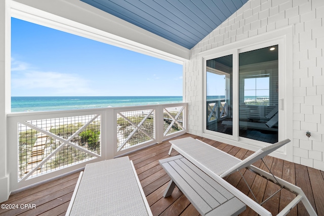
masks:
<path fill-rule="evenodd" d="M 152 215 L 129 157 L 89 163 L 66 215 Z"/>

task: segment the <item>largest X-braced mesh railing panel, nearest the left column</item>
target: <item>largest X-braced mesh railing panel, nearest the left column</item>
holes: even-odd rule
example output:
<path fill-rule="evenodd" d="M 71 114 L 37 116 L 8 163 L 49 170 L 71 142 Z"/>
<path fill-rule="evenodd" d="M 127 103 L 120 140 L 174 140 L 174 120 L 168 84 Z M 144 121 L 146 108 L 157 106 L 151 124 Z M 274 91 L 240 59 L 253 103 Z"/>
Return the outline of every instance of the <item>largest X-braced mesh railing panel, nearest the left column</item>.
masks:
<path fill-rule="evenodd" d="M 101 115 L 19 123 L 18 179 L 100 157 Z"/>

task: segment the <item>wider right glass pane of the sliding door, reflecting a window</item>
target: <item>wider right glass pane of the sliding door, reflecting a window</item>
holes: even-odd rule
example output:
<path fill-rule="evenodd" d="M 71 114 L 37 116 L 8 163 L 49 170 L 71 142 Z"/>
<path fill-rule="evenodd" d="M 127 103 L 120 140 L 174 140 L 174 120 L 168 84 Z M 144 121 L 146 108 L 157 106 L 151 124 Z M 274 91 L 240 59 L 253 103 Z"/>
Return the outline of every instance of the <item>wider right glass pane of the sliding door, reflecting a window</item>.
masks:
<path fill-rule="evenodd" d="M 278 142 L 278 46 L 239 54 L 239 136 Z"/>

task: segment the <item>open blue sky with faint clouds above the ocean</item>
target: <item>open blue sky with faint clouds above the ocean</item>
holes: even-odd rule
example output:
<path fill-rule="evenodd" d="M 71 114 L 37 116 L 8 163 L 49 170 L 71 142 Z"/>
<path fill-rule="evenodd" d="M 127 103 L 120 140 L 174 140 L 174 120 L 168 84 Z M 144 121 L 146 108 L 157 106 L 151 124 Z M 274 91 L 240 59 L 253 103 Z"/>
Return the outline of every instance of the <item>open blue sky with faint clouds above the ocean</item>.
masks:
<path fill-rule="evenodd" d="M 12 96 L 182 96 L 182 65 L 12 18 Z"/>

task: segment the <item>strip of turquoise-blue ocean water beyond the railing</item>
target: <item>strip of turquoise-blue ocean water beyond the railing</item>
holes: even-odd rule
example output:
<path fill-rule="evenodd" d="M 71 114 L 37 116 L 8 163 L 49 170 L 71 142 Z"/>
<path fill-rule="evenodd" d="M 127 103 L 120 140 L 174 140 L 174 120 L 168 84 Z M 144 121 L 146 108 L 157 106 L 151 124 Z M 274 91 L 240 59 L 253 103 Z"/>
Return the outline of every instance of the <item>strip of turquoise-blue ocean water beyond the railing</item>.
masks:
<path fill-rule="evenodd" d="M 182 96 L 11 97 L 11 112 L 53 111 L 182 103 Z"/>

